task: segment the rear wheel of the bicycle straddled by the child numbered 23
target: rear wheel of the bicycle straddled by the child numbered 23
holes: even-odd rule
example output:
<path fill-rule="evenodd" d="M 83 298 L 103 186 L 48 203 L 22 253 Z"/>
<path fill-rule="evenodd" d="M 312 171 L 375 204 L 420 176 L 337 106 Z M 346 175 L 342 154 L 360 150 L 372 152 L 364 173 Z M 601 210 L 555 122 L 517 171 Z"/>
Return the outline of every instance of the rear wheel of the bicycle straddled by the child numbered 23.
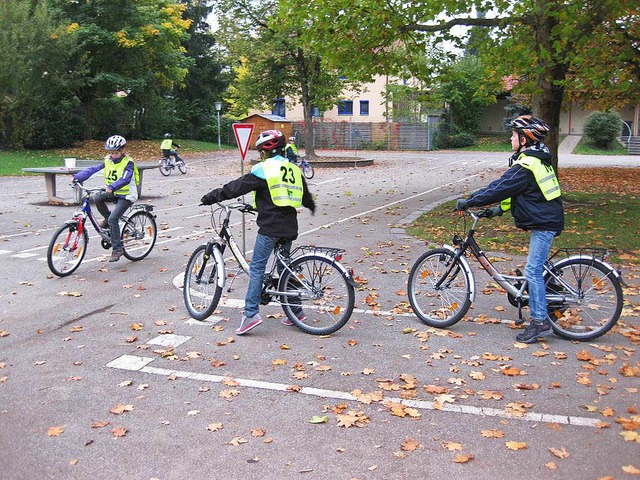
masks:
<path fill-rule="evenodd" d="M 278 290 L 284 313 L 300 330 L 328 335 L 349 321 L 355 289 L 330 258 L 302 255 L 283 270 Z"/>

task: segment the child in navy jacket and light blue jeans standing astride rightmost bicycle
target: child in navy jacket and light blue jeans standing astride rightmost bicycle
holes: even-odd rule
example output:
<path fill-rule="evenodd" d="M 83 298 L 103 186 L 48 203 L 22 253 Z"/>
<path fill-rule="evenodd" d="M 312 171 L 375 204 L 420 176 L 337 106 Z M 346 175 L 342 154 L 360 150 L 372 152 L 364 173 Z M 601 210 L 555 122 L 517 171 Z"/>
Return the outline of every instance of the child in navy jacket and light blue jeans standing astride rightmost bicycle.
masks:
<path fill-rule="evenodd" d="M 533 343 L 551 335 L 543 265 L 554 237 L 564 229 L 564 210 L 560 185 L 551 166 L 551 153 L 542 143 L 549 126 L 532 115 L 522 115 L 507 125 L 511 130 L 509 169 L 498 180 L 459 199 L 458 210 L 501 202 L 491 208 L 492 215 L 511 210 L 518 228 L 531 230 L 525 277 L 529 289 L 531 323 L 516 340 Z"/>

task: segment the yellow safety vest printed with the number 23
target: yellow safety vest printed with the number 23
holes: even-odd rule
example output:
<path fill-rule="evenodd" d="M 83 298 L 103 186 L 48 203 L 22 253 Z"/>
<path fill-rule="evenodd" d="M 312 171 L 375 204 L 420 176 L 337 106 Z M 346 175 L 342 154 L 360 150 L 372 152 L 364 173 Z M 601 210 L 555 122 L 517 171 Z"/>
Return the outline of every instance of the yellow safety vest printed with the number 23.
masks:
<path fill-rule="evenodd" d="M 262 163 L 269 194 L 278 207 L 299 207 L 302 205 L 302 173 L 297 165 L 289 161 L 269 158 Z"/>

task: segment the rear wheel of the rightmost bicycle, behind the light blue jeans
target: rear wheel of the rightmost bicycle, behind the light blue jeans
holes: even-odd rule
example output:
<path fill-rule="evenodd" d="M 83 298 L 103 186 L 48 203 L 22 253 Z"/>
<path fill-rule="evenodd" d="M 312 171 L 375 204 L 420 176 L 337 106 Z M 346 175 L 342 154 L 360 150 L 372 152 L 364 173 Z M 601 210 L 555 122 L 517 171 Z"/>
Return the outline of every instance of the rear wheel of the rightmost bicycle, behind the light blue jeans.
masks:
<path fill-rule="evenodd" d="M 622 312 L 623 293 L 609 266 L 598 259 L 567 258 L 556 262 L 552 271 L 561 278 L 561 283 L 545 272 L 547 295 L 563 297 L 547 300 L 556 335 L 584 342 L 613 328 Z"/>

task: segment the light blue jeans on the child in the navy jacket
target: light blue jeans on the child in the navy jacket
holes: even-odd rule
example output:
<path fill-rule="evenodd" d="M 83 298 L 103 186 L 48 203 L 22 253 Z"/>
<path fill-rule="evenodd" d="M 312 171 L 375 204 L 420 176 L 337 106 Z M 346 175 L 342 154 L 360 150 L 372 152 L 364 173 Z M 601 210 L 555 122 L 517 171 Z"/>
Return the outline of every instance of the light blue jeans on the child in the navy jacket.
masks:
<path fill-rule="evenodd" d="M 556 232 L 533 230 L 529 239 L 529 256 L 527 257 L 524 275 L 527 278 L 529 287 L 531 319 L 538 322 L 547 319 L 547 297 L 542 272 L 555 235 Z"/>

